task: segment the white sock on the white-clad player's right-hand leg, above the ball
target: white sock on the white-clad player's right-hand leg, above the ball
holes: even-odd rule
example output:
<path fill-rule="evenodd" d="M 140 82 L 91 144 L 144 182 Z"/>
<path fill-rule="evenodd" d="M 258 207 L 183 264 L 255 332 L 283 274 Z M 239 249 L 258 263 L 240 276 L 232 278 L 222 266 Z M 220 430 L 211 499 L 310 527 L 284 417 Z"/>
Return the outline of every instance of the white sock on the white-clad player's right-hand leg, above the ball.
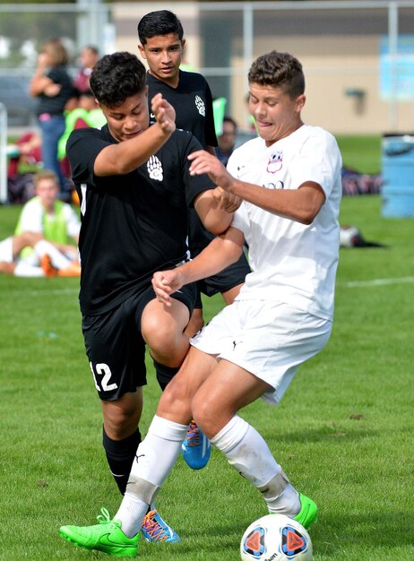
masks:
<path fill-rule="evenodd" d="M 211 438 L 230 465 L 263 494 L 271 512 L 298 514 L 300 501 L 269 446 L 251 425 L 237 415 Z"/>

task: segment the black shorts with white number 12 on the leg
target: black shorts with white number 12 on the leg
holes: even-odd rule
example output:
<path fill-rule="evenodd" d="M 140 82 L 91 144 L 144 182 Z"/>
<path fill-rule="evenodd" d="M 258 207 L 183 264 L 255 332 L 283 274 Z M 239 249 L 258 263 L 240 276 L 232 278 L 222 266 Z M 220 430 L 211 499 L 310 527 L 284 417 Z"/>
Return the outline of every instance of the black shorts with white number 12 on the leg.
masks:
<path fill-rule="evenodd" d="M 195 294 L 195 285 L 189 284 L 172 296 L 183 302 L 191 315 Z M 101 400 L 115 401 L 147 383 L 141 316 L 154 298 L 150 286 L 104 314 L 82 315 L 86 354 Z"/>

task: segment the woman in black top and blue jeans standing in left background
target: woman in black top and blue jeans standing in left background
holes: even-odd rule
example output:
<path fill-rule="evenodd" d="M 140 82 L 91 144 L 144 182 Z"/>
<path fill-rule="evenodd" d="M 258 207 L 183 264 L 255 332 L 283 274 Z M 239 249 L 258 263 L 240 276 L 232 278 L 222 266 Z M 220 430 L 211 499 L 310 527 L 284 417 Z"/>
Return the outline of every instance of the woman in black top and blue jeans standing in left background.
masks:
<path fill-rule="evenodd" d="M 30 82 L 30 94 L 38 98 L 36 114 L 42 134 L 43 164 L 55 171 L 61 191 L 64 190 L 64 176 L 57 160 L 57 142 L 65 133 L 65 105 L 73 95 L 67 63 L 68 54 L 62 41 L 47 40 L 41 47 Z"/>

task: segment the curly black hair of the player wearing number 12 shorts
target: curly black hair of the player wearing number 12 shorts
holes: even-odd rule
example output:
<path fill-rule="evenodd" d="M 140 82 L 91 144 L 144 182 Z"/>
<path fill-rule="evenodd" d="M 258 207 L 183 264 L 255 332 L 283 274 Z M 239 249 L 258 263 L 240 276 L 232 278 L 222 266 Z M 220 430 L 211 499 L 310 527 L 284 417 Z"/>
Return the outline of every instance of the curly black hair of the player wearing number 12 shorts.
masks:
<path fill-rule="evenodd" d="M 107 107 L 122 105 L 126 98 L 145 90 L 145 66 L 135 55 L 113 53 L 100 58 L 91 73 L 91 91 Z"/>

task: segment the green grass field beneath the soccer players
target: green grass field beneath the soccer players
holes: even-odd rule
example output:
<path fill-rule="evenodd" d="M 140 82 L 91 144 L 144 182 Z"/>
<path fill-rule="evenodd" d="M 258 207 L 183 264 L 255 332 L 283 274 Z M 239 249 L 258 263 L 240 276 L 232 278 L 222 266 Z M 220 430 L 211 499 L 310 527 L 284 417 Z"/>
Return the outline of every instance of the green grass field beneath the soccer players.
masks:
<path fill-rule="evenodd" d="M 18 207 L 0 207 L 0 239 Z M 315 498 L 315 561 L 412 561 L 413 226 L 384 219 L 378 196 L 345 198 L 341 223 L 386 248 L 341 250 L 336 316 L 327 348 L 302 367 L 278 408 L 242 415 L 270 444 L 292 482 Z M 59 538 L 119 504 L 101 441 L 101 414 L 84 354 L 76 279 L 0 276 L 0 561 L 108 556 Z M 204 302 L 207 318 L 220 298 Z M 160 391 L 148 364 L 142 433 Z M 204 470 L 179 458 L 160 513 L 180 546 L 142 542 L 147 561 L 237 561 L 263 501 L 213 450 Z"/>

